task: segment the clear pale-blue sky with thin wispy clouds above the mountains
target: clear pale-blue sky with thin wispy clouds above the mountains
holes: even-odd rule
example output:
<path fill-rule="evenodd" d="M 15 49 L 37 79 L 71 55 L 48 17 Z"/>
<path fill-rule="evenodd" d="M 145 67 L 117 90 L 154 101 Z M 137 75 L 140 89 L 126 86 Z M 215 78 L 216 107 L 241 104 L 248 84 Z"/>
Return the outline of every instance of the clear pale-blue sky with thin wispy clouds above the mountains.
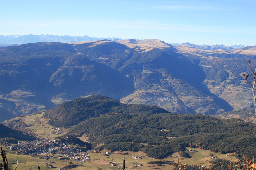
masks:
<path fill-rule="evenodd" d="M 256 45 L 256 0 L 0 1 L 0 35 Z"/>

